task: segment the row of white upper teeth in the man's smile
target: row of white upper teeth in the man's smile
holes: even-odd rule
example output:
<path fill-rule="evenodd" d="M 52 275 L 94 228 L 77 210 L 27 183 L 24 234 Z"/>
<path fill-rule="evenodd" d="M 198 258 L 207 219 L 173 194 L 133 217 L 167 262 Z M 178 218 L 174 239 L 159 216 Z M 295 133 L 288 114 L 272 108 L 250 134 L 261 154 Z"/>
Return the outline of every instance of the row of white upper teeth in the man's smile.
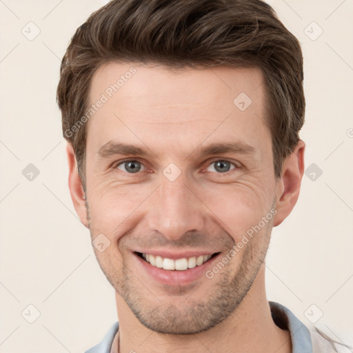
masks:
<path fill-rule="evenodd" d="M 192 256 L 188 259 L 183 257 L 182 259 L 167 259 L 161 256 L 154 256 L 151 254 L 142 254 L 143 259 L 148 261 L 152 266 L 157 268 L 163 268 L 164 270 L 188 270 L 188 268 L 194 268 L 195 266 L 202 265 L 205 261 L 208 261 L 212 254 Z"/>

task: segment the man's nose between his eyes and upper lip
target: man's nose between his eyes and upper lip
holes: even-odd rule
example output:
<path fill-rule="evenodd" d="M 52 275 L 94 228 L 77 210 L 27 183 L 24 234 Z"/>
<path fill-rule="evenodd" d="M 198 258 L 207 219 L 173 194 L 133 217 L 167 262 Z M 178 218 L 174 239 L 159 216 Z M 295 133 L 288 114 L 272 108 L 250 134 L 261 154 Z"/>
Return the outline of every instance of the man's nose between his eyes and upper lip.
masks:
<path fill-rule="evenodd" d="M 203 229 L 203 203 L 185 184 L 183 174 L 175 181 L 161 177 L 161 185 L 150 198 L 150 230 L 168 239 L 179 239 L 185 232 Z"/>

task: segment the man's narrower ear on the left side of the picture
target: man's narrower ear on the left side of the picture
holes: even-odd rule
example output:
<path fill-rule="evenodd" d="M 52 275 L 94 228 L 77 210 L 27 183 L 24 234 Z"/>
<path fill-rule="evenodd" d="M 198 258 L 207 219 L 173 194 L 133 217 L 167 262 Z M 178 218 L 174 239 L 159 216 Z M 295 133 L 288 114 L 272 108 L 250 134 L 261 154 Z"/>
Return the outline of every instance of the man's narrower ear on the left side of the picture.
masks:
<path fill-rule="evenodd" d="M 72 203 L 74 203 L 74 209 L 76 210 L 81 223 L 88 228 L 87 209 L 85 207 L 85 192 L 83 191 L 82 181 L 77 170 L 76 157 L 71 143 L 68 143 L 66 152 L 68 154 L 69 189 Z"/>

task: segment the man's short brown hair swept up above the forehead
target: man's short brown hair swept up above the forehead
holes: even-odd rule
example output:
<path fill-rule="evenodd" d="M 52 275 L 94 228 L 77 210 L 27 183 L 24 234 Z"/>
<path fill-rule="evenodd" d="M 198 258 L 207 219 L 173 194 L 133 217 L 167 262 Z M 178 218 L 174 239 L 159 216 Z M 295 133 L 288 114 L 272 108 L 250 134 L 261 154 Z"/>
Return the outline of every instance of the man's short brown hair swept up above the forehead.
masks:
<path fill-rule="evenodd" d="M 260 68 L 272 133 L 274 174 L 299 141 L 304 123 L 299 41 L 261 0 L 112 0 L 71 39 L 61 62 L 57 102 L 85 185 L 86 125 L 92 75 L 103 63 L 157 63 L 169 68 L 216 65 Z"/>

